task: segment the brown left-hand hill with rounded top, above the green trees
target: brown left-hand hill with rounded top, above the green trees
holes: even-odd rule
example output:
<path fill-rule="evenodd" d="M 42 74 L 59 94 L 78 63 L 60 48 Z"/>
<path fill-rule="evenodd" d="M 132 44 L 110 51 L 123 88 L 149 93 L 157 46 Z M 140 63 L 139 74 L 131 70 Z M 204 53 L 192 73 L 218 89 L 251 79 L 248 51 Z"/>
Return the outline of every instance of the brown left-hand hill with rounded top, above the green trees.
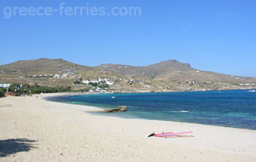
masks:
<path fill-rule="evenodd" d="M 50 75 L 54 76 L 55 74 L 61 76 L 68 74 L 68 76 L 62 79 L 49 78 Z M 74 86 L 73 83 L 78 78 L 120 79 L 125 77 L 108 70 L 99 70 L 62 59 L 40 58 L 17 61 L 0 66 L 0 83 L 38 83 L 44 86 Z"/>

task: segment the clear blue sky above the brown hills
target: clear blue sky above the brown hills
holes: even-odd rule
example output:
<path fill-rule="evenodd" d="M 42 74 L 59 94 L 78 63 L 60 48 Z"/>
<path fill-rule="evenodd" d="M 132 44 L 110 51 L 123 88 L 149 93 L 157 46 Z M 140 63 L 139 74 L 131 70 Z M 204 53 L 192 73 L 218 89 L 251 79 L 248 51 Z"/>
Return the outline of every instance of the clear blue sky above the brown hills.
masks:
<path fill-rule="evenodd" d="M 13 16 L 5 7 L 141 8 L 140 17 Z M 0 64 L 63 58 L 147 65 L 176 59 L 201 70 L 256 76 L 255 0 L 1 0 Z"/>

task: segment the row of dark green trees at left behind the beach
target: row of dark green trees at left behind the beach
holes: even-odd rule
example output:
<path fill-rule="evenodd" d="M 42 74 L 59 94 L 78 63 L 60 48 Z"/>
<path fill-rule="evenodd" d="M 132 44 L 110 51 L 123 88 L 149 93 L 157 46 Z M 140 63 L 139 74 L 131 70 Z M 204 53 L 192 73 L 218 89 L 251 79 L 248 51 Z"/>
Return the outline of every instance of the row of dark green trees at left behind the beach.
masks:
<path fill-rule="evenodd" d="M 16 91 L 15 91 L 16 89 Z M 22 92 L 30 94 L 43 93 L 55 93 L 55 92 L 71 92 L 71 87 L 48 87 L 48 86 L 38 86 L 36 83 L 33 86 L 29 84 L 24 84 L 20 86 L 19 84 L 11 84 L 9 92 Z"/>

